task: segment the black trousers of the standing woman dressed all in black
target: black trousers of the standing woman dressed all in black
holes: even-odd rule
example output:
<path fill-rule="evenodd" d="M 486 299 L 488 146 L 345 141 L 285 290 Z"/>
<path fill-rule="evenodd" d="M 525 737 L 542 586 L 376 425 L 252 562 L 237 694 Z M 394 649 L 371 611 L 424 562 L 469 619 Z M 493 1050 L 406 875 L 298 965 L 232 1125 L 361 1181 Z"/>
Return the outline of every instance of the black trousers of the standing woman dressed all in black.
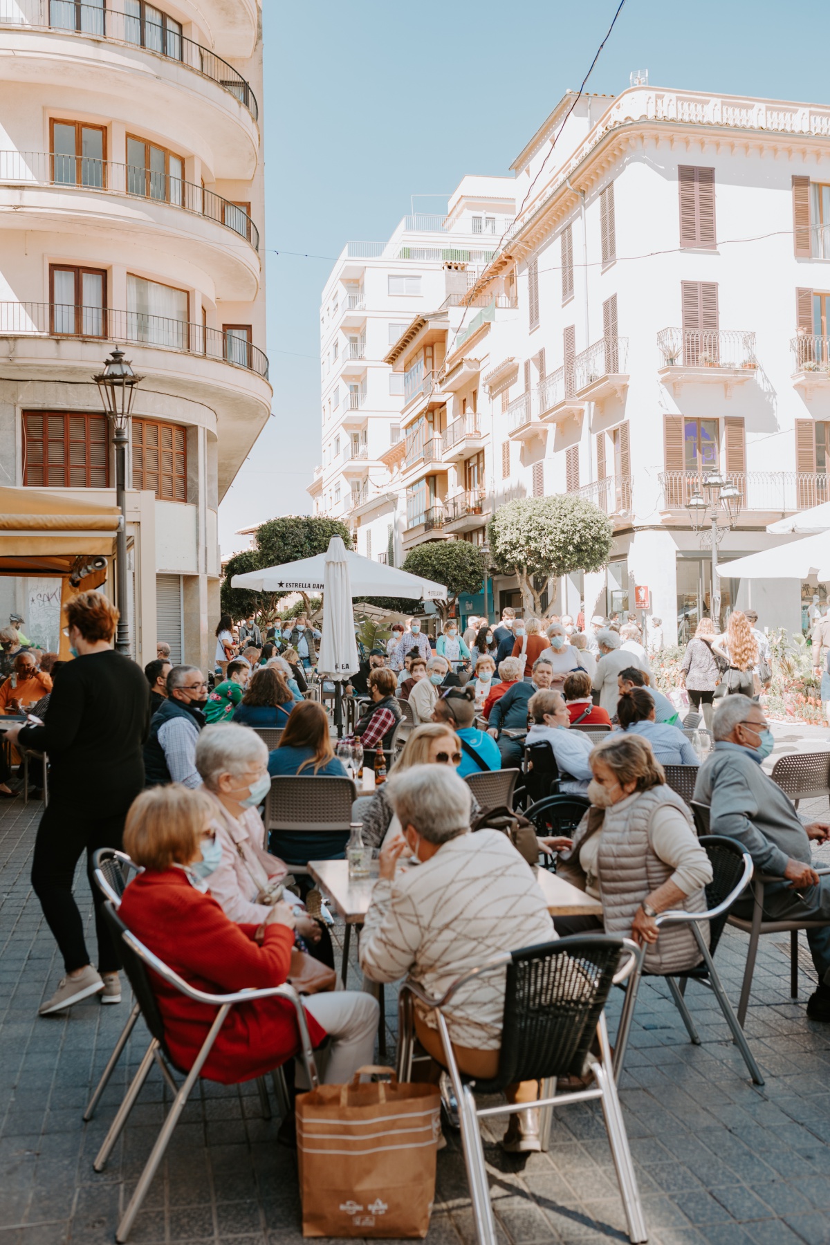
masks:
<path fill-rule="evenodd" d="M 123 812 L 119 813 L 95 809 L 87 812 L 67 807 L 57 796 L 50 801 L 37 827 L 31 884 L 67 972 L 91 962 L 83 937 L 83 919 L 72 895 L 75 867 L 83 852 L 95 904 L 98 971 L 116 972 L 121 967 L 118 949 L 105 924 L 103 895 L 92 876 L 92 855 L 98 848 L 121 849 L 128 808 L 129 804 L 123 806 Z"/>

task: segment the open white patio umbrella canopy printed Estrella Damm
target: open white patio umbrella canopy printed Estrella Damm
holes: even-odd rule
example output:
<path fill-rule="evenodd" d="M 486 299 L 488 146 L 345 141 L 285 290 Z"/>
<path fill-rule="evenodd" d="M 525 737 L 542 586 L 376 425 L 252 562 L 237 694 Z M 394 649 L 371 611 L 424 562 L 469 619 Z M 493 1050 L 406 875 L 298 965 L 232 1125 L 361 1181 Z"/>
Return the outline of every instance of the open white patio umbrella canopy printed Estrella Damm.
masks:
<path fill-rule="evenodd" d="M 340 537 L 332 537 L 332 540 L 340 540 L 342 545 Z M 447 599 L 443 584 L 422 579 L 421 575 L 411 575 L 396 566 L 386 566 L 381 561 L 372 561 L 371 558 L 363 558 L 345 547 L 343 553 L 348 564 L 352 600 L 363 596 L 409 596 L 422 601 Z M 286 561 L 281 566 L 249 570 L 244 575 L 234 575 L 230 583 L 234 588 L 249 588 L 254 593 L 324 593 L 326 558 L 327 553 L 320 553 L 315 558 Z"/>

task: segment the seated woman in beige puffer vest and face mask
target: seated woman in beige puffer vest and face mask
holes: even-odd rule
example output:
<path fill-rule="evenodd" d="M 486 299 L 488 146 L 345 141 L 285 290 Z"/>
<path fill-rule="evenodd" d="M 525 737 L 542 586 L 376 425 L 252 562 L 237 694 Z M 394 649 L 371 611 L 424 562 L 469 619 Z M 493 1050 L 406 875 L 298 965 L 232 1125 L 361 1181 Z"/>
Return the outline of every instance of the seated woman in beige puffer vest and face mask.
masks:
<path fill-rule="evenodd" d="M 646 946 L 646 971 L 672 974 L 702 960 L 688 925 L 658 930 L 655 918 L 668 909 L 706 911 L 712 864 L 694 833 L 692 814 L 666 786 L 663 767 L 638 736 L 615 737 L 590 757 L 592 808 L 561 860 L 562 874 L 602 900 L 606 934 L 622 934 Z M 708 940 L 708 921 L 701 921 Z M 564 933 L 559 929 L 559 933 Z M 660 937 L 658 937 L 660 934 Z"/>

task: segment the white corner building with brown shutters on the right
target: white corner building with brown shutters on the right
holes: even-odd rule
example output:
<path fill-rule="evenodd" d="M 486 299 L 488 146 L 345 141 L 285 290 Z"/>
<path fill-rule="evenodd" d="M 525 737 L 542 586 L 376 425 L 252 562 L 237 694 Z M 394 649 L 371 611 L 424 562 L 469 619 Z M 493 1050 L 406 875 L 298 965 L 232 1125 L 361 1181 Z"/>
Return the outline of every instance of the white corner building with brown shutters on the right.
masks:
<path fill-rule="evenodd" d="M 613 550 L 605 571 L 548 585 L 550 609 L 623 613 L 647 588 L 666 642 L 683 640 L 713 608 L 693 522 L 709 472 L 738 494 L 722 563 L 828 498 L 830 107 L 566 95 L 513 173 L 518 214 L 484 274 L 387 355 L 408 385 L 403 552 L 480 542 L 514 497 L 576 493 L 612 518 Z M 497 609 L 516 604 L 515 583 L 494 589 Z M 752 605 L 793 631 L 813 593 L 719 589 L 720 622 Z"/>

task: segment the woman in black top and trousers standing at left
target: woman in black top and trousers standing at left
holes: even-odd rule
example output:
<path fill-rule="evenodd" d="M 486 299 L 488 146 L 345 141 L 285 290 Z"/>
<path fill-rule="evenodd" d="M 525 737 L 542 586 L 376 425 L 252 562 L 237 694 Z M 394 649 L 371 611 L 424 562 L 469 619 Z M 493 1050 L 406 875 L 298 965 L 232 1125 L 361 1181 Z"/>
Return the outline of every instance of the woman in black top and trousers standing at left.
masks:
<path fill-rule="evenodd" d="M 40 1007 L 41 1016 L 95 994 L 101 994 L 101 1002 L 121 1002 L 121 959 L 92 880 L 92 854 L 121 847 L 127 810 L 144 787 L 142 745 L 149 730 L 144 674 L 112 647 L 118 610 L 101 593 L 80 593 L 66 605 L 66 620 L 75 661 L 55 677 L 46 723 L 6 733 L 10 742 L 20 740 L 50 759 L 50 798 L 37 828 L 31 880 L 63 955 L 66 976 Z M 97 971 L 72 898 L 82 852 L 95 901 Z"/>

